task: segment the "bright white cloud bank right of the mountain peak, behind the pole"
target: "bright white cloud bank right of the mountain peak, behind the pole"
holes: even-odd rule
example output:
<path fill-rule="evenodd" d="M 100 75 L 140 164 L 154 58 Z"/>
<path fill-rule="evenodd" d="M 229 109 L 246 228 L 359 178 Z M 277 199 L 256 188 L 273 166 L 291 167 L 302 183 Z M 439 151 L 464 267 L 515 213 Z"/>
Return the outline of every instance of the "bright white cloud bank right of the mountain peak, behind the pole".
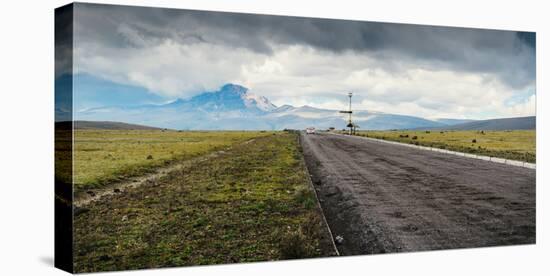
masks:
<path fill-rule="evenodd" d="M 347 92 L 353 92 L 355 108 L 387 113 L 429 118 L 534 115 L 525 107 L 505 108 L 506 99 L 518 91 L 491 74 L 380 64 L 354 52 L 278 49 L 264 64 L 245 66 L 241 80 L 276 104 L 343 109 Z"/>

